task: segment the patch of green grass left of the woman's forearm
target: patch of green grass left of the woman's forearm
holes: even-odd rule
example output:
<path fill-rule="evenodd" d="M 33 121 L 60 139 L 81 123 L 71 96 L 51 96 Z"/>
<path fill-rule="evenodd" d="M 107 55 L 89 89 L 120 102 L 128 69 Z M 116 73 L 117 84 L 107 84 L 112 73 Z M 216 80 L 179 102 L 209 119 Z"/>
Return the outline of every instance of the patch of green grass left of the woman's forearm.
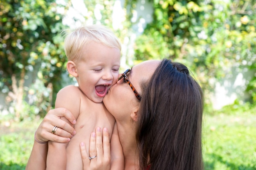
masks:
<path fill-rule="evenodd" d="M 34 128 L 41 120 L 26 120 L 9 127 L 0 124 L 0 169 L 25 170 L 34 143 Z"/>

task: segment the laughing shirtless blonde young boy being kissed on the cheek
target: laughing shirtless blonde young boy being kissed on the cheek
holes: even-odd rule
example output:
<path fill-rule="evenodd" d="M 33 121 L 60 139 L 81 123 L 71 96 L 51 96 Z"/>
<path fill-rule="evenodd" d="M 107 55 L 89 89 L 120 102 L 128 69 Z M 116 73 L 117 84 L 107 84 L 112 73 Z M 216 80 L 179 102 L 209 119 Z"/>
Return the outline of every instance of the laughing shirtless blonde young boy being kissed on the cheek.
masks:
<path fill-rule="evenodd" d="M 68 144 L 48 142 L 48 170 L 83 170 L 79 144 L 84 142 L 88 151 L 90 135 L 98 126 L 106 127 L 111 137 L 115 118 L 102 100 L 117 81 L 120 53 L 119 39 L 104 26 L 82 26 L 65 38 L 67 71 L 76 78 L 78 87 L 69 85 L 61 89 L 55 107 L 71 111 L 76 118 L 76 135 Z M 52 133 L 56 131 L 54 127 Z M 97 159 L 94 156 L 97 155 L 90 155 Z"/>

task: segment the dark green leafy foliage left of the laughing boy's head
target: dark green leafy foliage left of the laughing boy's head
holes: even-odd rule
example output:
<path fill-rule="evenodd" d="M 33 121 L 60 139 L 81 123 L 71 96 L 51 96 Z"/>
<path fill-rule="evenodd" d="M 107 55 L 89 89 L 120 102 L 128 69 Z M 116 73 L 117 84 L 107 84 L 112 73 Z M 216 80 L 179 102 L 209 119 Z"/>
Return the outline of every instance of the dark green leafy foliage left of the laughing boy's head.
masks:
<path fill-rule="evenodd" d="M 51 88 L 54 94 L 61 88 L 66 57 L 63 38 L 58 32 L 66 27 L 57 9 L 67 7 L 56 4 L 55 0 L 0 1 L 0 89 L 11 92 L 9 102 L 13 101 L 11 105 L 19 112 L 18 118 L 23 96 L 33 89 L 25 87 L 25 80 L 40 80 L 44 88 Z M 26 88 L 29 89 L 26 91 Z M 41 100 L 41 104 L 52 106 L 52 101 L 54 99 Z M 40 111 L 46 110 L 40 108 Z"/>

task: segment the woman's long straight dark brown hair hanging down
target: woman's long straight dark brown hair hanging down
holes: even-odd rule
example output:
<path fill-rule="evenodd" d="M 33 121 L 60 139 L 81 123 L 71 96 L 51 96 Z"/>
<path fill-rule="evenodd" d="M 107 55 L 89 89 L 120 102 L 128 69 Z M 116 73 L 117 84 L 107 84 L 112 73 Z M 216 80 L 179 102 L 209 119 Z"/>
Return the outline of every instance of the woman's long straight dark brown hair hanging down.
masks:
<path fill-rule="evenodd" d="M 202 170 L 203 94 L 181 63 L 164 59 L 142 85 L 136 139 L 141 170 Z"/>

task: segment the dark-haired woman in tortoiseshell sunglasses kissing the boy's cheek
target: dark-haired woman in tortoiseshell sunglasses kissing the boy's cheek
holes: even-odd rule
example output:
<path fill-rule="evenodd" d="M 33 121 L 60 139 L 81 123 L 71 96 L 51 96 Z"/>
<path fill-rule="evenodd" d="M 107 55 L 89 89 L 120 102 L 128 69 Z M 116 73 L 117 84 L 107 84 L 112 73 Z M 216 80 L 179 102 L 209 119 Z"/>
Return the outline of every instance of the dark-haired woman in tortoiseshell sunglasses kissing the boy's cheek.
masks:
<path fill-rule="evenodd" d="M 167 59 L 144 61 L 121 74 L 103 102 L 116 119 L 125 170 L 203 169 L 202 90 L 186 66 Z M 72 133 L 68 132 L 74 129 L 58 119 L 59 116 L 67 116 L 71 122 L 74 119 L 68 111 L 62 115 L 58 111 L 51 112 L 39 126 L 36 138 L 41 142 L 67 142 L 69 139 L 65 137 L 71 137 Z M 56 131 L 57 135 L 51 134 L 53 126 L 62 128 Z M 106 142 L 104 137 L 103 141 Z M 105 150 L 105 143 L 103 146 Z M 104 162 L 108 165 L 108 161 L 104 161 L 105 153 L 97 152 L 100 158 L 88 161 L 84 147 L 81 148 L 83 163 L 96 166 Z M 40 148 L 40 152 L 43 150 Z M 98 161 L 101 158 L 103 161 Z"/>

